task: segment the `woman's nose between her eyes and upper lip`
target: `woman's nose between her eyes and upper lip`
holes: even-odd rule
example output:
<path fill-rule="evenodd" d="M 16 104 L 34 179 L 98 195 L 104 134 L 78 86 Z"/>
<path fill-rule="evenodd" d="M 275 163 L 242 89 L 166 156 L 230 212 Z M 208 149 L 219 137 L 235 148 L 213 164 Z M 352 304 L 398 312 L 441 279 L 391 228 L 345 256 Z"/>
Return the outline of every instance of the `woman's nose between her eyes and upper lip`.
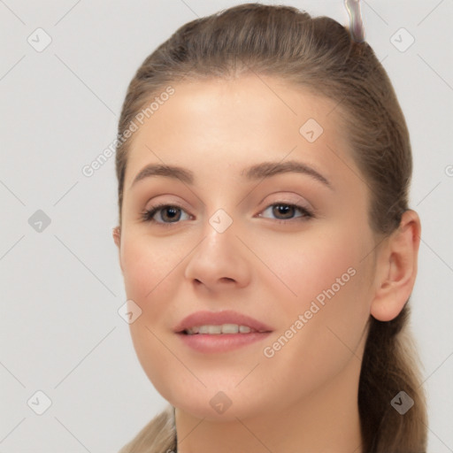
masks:
<path fill-rule="evenodd" d="M 185 278 L 211 291 L 244 288 L 251 277 L 249 254 L 236 237 L 234 222 L 223 232 L 206 222 L 203 240 L 188 257 Z"/>

